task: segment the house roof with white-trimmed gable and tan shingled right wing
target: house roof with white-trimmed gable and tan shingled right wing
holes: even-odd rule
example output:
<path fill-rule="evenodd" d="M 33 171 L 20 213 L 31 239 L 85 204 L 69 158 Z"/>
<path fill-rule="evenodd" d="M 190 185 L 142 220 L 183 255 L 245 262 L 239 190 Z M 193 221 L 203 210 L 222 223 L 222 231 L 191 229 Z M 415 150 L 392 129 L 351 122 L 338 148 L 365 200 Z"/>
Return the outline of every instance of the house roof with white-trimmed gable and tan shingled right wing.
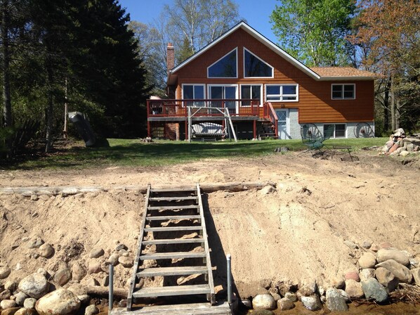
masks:
<path fill-rule="evenodd" d="M 235 32 L 239 28 L 242 29 L 242 30 L 244 30 L 248 34 L 250 34 L 252 37 L 254 37 L 258 41 L 260 41 L 261 44 L 264 44 L 265 46 L 267 46 L 269 49 L 271 49 L 272 51 L 274 51 L 275 53 L 277 53 L 282 58 L 284 58 L 287 61 L 289 61 L 289 63 L 291 63 L 292 65 L 296 66 L 296 68 L 302 70 L 303 72 L 305 72 L 310 77 L 313 77 L 313 79 L 315 79 L 315 80 L 331 80 L 331 79 L 374 79 L 374 77 L 376 76 L 372 72 L 357 70 L 357 69 L 353 69 L 353 68 L 342 68 L 342 69 L 348 69 L 348 72 L 344 72 L 343 71 L 343 72 L 341 72 L 341 75 L 339 74 L 339 71 L 333 71 L 333 70 L 330 70 L 329 72 L 327 71 L 327 69 L 332 69 L 333 67 L 329 67 L 329 68 L 308 68 L 306 65 L 303 65 L 303 63 L 301 63 L 299 60 L 297 60 L 296 58 L 290 56 L 289 53 L 287 53 L 286 51 L 284 51 L 283 49 L 281 49 L 279 46 L 277 46 L 276 44 L 274 44 L 273 41 L 270 41 L 270 39 L 264 37 L 259 32 L 257 32 L 256 30 L 254 30 L 252 27 L 250 27 L 249 25 L 247 25 L 247 23 L 244 23 L 244 21 L 242 21 L 242 22 L 239 22 L 234 27 L 232 27 L 227 32 L 225 32 L 224 34 L 222 34 L 220 37 L 218 37 L 214 41 L 211 41 L 211 43 L 209 43 L 208 45 L 204 46 L 202 49 L 200 49 L 199 51 L 197 51 L 197 53 L 195 53 L 194 55 L 192 55 L 190 58 L 188 58 L 187 60 L 184 60 L 182 63 L 180 63 L 179 65 L 177 65 L 175 68 L 173 68 L 172 70 L 170 70 L 169 71 L 168 82 L 170 81 L 171 75 L 175 74 L 178 70 L 180 70 L 181 68 L 183 68 L 185 65 L 187 65 L 188 63 L 190 63 L 192 60 L 195 60 L 195 58 L 197 58 L 198 56 L 201 56 L 203 53 L 205 53 L 206 51 L 208 51 L 209 49 L 211 49 L 211 47 L 213 47 L 216 44 L 218 44 L 218 42 L 223 41 L 223 39 L 225 39 L 226 37 L 228 37 L 230 34 L 232 34 L 233 32 Z M 341 69 L 341 68 L 334 68 L 334 69 Z M 353 69 L 356 72 L 351 72 L 350 69 Z M 320 71 L 320 72 L 317 72 L 317 71 Z M 357 72 L 357 71 L 360 71 L 360 72 Z M 364 72 L 364 73 L 362 73 L 362 72 Z M 359 73 L 359 75 L 357 75 L 357 73 Z"/>

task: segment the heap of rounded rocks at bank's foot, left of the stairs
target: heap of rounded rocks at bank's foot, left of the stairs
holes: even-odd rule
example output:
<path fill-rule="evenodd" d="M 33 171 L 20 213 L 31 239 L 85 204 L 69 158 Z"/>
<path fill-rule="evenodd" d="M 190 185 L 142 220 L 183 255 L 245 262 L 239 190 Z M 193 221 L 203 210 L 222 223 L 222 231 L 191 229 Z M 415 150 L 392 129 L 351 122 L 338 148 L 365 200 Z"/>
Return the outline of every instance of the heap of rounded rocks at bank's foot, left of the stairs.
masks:
<path fill-rule="evenodd" d="M 26 248 L 33 251 L 32 256 L 51 259 L 56 255 L 53 245 L 44 243 L 38 236 L 26 241 Z M 94 305 L 89 307 L 91 297 L 87 295 L 88 286 L 107 286 L 110 264 L 121 269 L 120 274 L 126 277 L 124 282 L 129 281 L 133 266 L 131 250 L 117 243 L 114 250 L 93 248 L 88 253 L 81 250 L 80 254 L 83 259 L 65 259 L 55 264 L 53 270 L 39 268 L 34 274 L 21 279 L 13 276 L 11 268 L 0 264 L 1 314 L 67 315 L 81 311 L 97 314 L 98 309 Z"/>

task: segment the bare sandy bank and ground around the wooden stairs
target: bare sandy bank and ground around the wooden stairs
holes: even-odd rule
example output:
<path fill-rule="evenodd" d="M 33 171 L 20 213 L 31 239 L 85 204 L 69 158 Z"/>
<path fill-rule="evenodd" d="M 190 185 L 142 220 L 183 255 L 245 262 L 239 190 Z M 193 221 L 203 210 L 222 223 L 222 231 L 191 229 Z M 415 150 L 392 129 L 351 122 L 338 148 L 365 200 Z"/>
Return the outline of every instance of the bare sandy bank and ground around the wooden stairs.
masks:
<path fill-rule="evenodd" d="M 217 283 L 225 282 L 225 254 L 239 293 L 254 293 L 263 279 L 274 282 L 328 283 L 333 276 L 357 269 L 362 244 L 387 241 L 420 258 L 419 160 L 400 160 L 358 153 L 360 162 L 313 159 L 310 155 L 271 155 L 258 159 L 203 160 L 163 168 L 90 169 L 88 171 L 0 172 L 0 186 L 105 186 L 191 184 L 228 181 L 274 181 L 277 191 L 204 195 L 211 259 Z M 116 244 L 136 250 L 143 195 L 135 192 L 88 193 L 30 200 L 0 195 L 0 265 L 22 277 L 38 267 L 57 270 L 79 261 L 88 266 L 88 252 L 102 247 L 107 255 Z M 217 233 L 215 233 L 217 232 Z M 53 244 L 51 259 L 34 258 L 25 237 L 41 236 Z M 18 248 L 12 250 L 12 245 Z M 107 256 L 105 255 L 105 256 Z M 105 259 L 105 258 L 103 258 Z M 67 262 L 66 262 L 67 261 Z M 17 264 L 21 269 L 15 270 Z M 116 268 L 117 286 L 129 269 Z M 105 273 L 95 278 L 105 277 Z M 87 281 L 86 277 L 84 281 Z M 83 281 L 82 281 L 83 282 Z"/>

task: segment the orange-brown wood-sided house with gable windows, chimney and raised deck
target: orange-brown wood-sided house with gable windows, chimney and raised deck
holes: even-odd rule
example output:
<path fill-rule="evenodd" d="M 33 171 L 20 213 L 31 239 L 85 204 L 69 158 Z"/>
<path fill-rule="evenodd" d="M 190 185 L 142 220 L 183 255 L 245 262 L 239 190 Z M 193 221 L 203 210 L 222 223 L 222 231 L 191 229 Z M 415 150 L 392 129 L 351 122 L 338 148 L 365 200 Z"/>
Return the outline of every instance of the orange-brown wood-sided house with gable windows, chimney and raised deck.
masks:
<path fill-rule="evenodd" d="M 171 44 L 167 56 L 169 99 L 147 101 L 149 136 L 188 139 L 191 124 L 226 127 L 226 115 L 239 139 L 301 139 L 303 124 L 334 124 L 333 138 L 357 136 L 360 123 L 374 129 L 374 73 L 308 68 L 247 23 L 179 65 Z"/>

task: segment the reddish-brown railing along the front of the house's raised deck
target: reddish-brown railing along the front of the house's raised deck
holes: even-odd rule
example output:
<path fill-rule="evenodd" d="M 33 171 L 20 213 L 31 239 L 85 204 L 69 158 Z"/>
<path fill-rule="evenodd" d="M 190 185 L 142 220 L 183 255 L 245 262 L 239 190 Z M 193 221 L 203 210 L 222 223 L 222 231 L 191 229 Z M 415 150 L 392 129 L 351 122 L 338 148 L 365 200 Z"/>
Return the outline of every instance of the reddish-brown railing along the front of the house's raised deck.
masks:
<path fill-rule="evenodd" d="M 188 117 L 187 108 L 202 107 L 200 116 L 222 116 L 205 108 L 229 108 L 231 116 L 259 116 L 260 102 L 253 99 L 147 100 L 147 117 Z"/>

